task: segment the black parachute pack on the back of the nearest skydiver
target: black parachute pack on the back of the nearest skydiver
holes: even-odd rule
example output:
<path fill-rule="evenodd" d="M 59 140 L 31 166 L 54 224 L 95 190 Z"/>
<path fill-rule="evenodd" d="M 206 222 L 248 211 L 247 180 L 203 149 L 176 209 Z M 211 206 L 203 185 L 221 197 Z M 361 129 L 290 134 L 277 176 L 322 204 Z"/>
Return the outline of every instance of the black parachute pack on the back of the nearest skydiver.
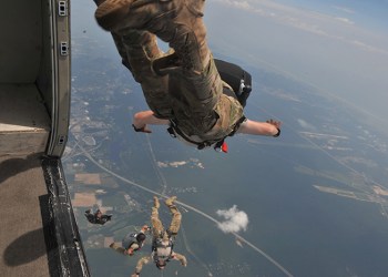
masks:
<path fill-rule="evenodd" d="M 215 65 L 218 70 L 221 79 L 232 86 L 234 95 L 231 95 L 224 90 L 224 93 L 234 96 L 244 107 L 246 100 L 252 91 L 252 76 L 248 72 L 243 70 L 241 66 L 225 62 L 222 60 L 214 59 Z"/>

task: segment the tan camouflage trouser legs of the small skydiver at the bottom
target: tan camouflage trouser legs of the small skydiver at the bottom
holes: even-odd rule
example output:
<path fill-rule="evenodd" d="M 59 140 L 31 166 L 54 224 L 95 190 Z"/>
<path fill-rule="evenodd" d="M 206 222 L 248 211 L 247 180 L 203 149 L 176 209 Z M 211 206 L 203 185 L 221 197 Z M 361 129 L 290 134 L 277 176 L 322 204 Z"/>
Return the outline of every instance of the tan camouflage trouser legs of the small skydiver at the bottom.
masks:
<path fill-rule="evenodd" d="M 181 227 L 182 215 L 175 205 L 172 205 L 169 208 L 172 215 L 172 219 L 167 230 L 171 234 L 171 236 L 176 236 Z M 161 219 L 159 218 L 159 208 L 155 206 L 152 207 L 151 224 L 152 224 L 153 238 L 154 239 L 160 238 L 161 234 L 163 234 L 165 229 L 163 227 Z"/>

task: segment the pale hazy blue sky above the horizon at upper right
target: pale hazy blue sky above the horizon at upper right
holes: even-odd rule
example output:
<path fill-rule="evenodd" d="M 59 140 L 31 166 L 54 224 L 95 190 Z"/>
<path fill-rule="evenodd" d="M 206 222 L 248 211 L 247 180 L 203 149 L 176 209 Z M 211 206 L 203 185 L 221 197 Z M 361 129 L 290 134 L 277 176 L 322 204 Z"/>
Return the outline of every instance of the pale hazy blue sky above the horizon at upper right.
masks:
<path fill-rule="evenodd" d="M 316 86 L 388 129 L 387 1 L 213 0 L 214 52 Z"/>

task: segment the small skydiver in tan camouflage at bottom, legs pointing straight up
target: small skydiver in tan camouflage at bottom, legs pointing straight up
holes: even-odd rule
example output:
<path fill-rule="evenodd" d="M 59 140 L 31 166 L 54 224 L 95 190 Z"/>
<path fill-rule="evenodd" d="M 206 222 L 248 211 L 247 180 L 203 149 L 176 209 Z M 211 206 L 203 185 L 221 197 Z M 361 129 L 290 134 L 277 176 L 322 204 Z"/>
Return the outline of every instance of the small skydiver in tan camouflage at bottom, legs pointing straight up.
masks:
<path fill-rule="evenodd" d="M 140 276 L 143 266 L 153 260 L 159 269 L 164 269 L 167 263 L 172 259 L 180 260 L 182 266 L 186 266 L 185 256 L 173 252 L 175 236 L 181 227 L 182 215 L 174 205 L 176 196 L 170 197 L 165 204 L 172 214 L 170 227 L 164 229 L 161 219 L 159 218 L 160 203 L 154 196 L 154 206 L 152 207 L 151 223 L 152 223 L 152 253 L 151 256 L 145 256 L 137 261 L 135 273 L 132 277 Z"/>

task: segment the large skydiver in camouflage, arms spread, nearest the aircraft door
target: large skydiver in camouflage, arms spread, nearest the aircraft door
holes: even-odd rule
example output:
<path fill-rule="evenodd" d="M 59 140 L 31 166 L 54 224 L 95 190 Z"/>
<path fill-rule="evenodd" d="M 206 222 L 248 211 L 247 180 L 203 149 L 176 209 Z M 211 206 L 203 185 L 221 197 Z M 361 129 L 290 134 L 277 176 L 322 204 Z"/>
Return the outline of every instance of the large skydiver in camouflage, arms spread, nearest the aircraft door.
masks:
<path fill-rule="evenodd" d="M 134 115 L 136 132 L 151 133 L 149 124 L 165 124 L 187 144 L 225 152 L 224 140 L 236 132 L 280 135 L 278 121 L 246 119 L 237 92 L 222 80 L 205 39 L 205 1 L 94 1 L 100 4 L 98 23 L 112 33 L 151 109 Z M 156 35 L 169 42 L 167 53 L 159 49 Z"/>

